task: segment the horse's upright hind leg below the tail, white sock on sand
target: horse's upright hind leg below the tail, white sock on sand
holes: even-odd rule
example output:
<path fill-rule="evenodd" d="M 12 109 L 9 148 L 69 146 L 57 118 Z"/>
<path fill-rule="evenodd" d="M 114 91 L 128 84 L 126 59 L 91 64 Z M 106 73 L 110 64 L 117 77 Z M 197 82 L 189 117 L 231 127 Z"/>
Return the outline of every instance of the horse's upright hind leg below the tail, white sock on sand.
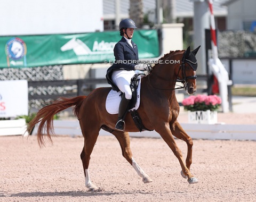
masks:
<path fill-rule="evenodd" d="M 82 130 L 83 131 L 83 130 Z M 89 189 L 89 191 L 99 191 L 98 187 L 95 186 L 90 179 L 89 174 L 89 162 L 90 162 L 90 156 L 93 150 L 93 147 L 95 145 L 95 142 L 97 141 L 99 135 L 99 131 L 96 132 L 89 132 L 86 131 L 86 133 L 83 131 L 84 136 L 84 147 L 81 152 L 81 160 L 83 163 L 83 169 L 84 169 L 84 175 L 85 175 L 85 186 Z"/>

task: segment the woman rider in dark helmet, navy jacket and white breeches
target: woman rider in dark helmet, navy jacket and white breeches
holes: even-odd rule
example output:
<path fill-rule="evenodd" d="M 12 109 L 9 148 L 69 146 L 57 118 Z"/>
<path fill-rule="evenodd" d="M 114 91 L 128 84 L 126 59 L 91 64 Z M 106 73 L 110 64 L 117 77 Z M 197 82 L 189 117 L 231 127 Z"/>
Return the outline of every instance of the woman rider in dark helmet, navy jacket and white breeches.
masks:
<path fill-rule="evenodd" d="M 131 78 L 135 74 L 135 70 L 148 70 L 147 64 L 137 64 L 139 60 L 138 47 L 132 41 L 135 28 L 137 27 L 131 19 L 124 19 L 119 23 L 120 35 L 123 37 L 114 47 L 115 62 L 107 70 L 106 75 L 108 83 L 113 89 L 123 92 L 115 126 L 115 129 L 119 131 L 125 129 L 124 120 L 132 98 Z"/>

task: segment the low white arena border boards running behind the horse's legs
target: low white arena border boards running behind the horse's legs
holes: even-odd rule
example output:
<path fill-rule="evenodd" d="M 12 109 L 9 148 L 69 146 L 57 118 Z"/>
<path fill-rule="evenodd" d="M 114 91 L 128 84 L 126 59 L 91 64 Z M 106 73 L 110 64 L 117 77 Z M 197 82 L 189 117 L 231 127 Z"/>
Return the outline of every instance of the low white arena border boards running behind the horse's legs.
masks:
<path fill-rule="evenodd" d="M 256 125 L 181 123 L 181 126 L 192 139 L 256 140 Z M 78 120 L 53 120 L 53 128 L 57 135 L 82 136 Z M 32 134 L 36 135 L 36 131 L 37 125 Z M 129 134 L 130 137 L 161 138 L 155 131 L 129 132 Z M 100 130 L 99 135 L 112 134 Z"/>

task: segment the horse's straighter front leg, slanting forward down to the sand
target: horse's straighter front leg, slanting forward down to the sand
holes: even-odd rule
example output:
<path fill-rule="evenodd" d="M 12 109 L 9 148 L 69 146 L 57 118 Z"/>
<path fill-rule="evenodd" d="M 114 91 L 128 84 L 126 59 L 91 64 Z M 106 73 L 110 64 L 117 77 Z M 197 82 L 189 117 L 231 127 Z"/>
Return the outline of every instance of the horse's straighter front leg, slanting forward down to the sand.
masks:
<path fill-rule="evenodd" d="M 161 135 L 166 144 L 172 149 L 174 155 L 178 158 L 182 172 L 187 176 L 189 184 L 197 183 L 198 180 L 190 173 L 188 167 L 183 160 L 181 150 L 179 149 L 173 138 L 169 123 L 165 123 L 164 126 L 162 125 L 162 127 L 161 125 L 158 125 L 157 129 L 155 130 Z"/>

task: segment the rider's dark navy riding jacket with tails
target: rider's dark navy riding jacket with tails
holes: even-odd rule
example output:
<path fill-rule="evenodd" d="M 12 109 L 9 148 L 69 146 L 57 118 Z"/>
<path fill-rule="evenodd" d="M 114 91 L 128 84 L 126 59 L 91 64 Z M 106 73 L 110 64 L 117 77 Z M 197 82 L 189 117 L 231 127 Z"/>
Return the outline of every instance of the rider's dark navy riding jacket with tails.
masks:
<path fill-rule="evenodd" d="M 114 47 L 115 62 L 107 70 L 106 78 L 113 90 L 119 91 L 115 83 L 111 80 L 112 73 L 115 70 L 134 70 L 134 66 L 139 60 L 138 47 L 132 41 L 132 46 L 124 37 L 118 41 Z M 134 62 L 135 61 L 135 62 Z"/>

